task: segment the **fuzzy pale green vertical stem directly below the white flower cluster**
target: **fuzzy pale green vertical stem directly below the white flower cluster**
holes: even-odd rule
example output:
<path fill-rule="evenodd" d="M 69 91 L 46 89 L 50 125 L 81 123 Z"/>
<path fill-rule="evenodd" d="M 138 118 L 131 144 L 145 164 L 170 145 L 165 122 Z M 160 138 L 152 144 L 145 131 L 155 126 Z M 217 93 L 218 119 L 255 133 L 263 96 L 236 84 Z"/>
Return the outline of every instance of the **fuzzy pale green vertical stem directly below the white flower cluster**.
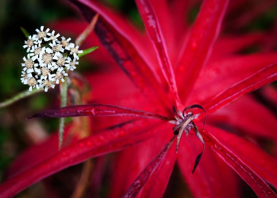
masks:
<path fill-rule="evenodd" d="M 67 77 L 64 77 L 64 83 L 60 84 L 60 95 L 61 95 L 61 106 L 65 107 L 67 105 Z M 64 121 L 65 118 L 60 118 L 59 123 L 59 149 L 62 148 L 63 138 L 64 138 Z"/>

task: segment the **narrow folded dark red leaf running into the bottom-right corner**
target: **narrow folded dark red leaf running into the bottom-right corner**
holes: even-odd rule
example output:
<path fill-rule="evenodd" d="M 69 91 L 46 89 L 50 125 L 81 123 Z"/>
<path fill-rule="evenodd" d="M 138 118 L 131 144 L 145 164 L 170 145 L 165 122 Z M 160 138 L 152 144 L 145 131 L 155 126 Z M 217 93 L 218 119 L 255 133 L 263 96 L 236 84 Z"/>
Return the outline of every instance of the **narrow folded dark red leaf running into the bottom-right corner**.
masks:
<path fill-rule="evenodd" d="M 222 160 L 228 164 L 258 195 L 258 197 L 277 197 L 271 188 L 230 149 L 220 143 L 211 133 L 205 133 L 207 143 Z"/>

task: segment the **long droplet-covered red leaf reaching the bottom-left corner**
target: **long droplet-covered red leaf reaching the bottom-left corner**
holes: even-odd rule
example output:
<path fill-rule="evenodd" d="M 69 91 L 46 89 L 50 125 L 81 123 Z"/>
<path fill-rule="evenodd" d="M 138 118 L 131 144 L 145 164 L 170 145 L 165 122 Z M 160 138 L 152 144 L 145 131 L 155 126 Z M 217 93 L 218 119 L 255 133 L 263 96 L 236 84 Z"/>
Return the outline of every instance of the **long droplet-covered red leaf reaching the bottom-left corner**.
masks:
<path fill-rule="evenodd" d="M 137 120 L 72 143 L 0 185 L 0 197 L 12 197 L 28 186 L 88 158 L 119 151 L 154 136 L 161 121 Z"/>

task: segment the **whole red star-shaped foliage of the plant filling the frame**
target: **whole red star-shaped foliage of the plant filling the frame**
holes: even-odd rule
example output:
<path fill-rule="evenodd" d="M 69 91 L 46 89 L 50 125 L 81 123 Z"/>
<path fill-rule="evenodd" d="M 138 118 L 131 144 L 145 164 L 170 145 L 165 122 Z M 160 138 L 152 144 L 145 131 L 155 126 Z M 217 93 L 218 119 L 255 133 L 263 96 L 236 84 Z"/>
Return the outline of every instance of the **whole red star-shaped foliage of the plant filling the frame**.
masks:
<path fill-rule="evenodd" d="M 175 0 L 169 7 L 166 0 L 136 0 L 148 37 L 122 16 L 93 0 L 68 1 L 88 22 L 99 13 L 95 34 L 129 79 L 116 68 L 105 74 L 88 75 L 94 95 L 96 93 L 88 101 L 112 105 L 70 106 L 34 115 L 101 118 L 93 118 L 99 122 L 94 129 L 97 133 L 72 142 L 60 151 L 54 148 L 57 140 L 52 138 L 49 140 L 52 145 L 46 142 L 29 150 L 31 154 L 19 157 L 14 163 L 17 165 L 11 169 L 13 176 L 0 186 L 0 197 L 16 195 L 35 182 L 88 158 L 122 149 L 115 161 L 110 197 L 162 197 L 175 162 L 178 162 L 195 197 L 238 197 L 238 181 L 231 169 L 259 197 L 276 197 L 265 183 L 277 187 L 276 159 L 249 140 L 218 127 L 219 124 L 225 129 L 232 126 L 240 135 L 277 140 L 277 122 L 272 112 L 250 96 L 236 101 L 277 80 L 276 53 L 236 54 L 257 41 L 266 40 L 263 33 L 219 36 L 226 12 L 228 14 L 246 1 L 232 1 L 227 8 L 228 0 L 204 0 L 194 25 L 189 29 L 180 16 L 194 1 Z M 252 12 L 261 9 L 253 8 Z M 246 23 L 251 17 L 242 18 Z M 54 26 L 57 30 L 72 30 L 79 34 L 86 23 L 63 21 Z M 91 35 L 86 45 L 94 45 L 94 40 L 95 35 Z M 107 57 L 103 49 L 96 53 L 98 57 L 94 60 L 112 64 L 108 58 L 99 58 Z M 276 106 L 276 98 L 272 97 L 276 90 L 267 87 L 262 92 Z M 205 108 L 208 125 L 205 131 L 200 131 L 206 145 L 205 152 L 191 175 L 202 146 L 194 136 L 183 137 L 176 153 L 172 147 L 174 125 L 168 120 L 174 120 L 171 104 L 183 111 L 185 106 L 196 103 Z M 200 114 L 194 121 L 202 128 L 204 113 L 193 112 Z M 125 122 L 118 124 L 122 118 L 102 116 L 135 117 L 124 117 Z M 27 158 L 34 159 L 33 156 L 42 151 L 45 153 L 45 145 L 50 147 L 51 154 L 35 158 L 38 161 L 31 161 L 23 168 L 18 166 Z"/>

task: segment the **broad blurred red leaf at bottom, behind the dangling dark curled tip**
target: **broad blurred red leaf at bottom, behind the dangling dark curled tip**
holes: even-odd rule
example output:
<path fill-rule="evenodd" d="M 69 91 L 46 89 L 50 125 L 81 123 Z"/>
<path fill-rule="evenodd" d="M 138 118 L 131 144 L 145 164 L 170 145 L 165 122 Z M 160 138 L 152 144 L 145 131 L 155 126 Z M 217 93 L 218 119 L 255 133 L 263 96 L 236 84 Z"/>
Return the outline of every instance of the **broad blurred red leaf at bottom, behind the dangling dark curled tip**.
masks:
<path fill-rule="evenodd" d="M 179 145 L 177 162 L 193 196 L 196 198 L 239 197 L 235 173 L 207 145 L 192 175 L 195 158 L 202 151 L 202 147 L 202 143 L 195 136 L 188 136 L 181 140 Z"/>

